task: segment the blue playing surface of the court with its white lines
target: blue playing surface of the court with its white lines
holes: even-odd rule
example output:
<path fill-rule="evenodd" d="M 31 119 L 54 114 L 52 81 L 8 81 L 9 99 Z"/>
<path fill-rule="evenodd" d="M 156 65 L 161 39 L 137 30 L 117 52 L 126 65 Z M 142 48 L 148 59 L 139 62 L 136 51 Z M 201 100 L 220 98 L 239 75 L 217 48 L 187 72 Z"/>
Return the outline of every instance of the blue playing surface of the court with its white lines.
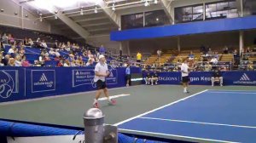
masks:
<path fill-rule="evenodd" d="M 255 143 L 256 92 L 204 90 L 115 125 L 166 139 Z"/>

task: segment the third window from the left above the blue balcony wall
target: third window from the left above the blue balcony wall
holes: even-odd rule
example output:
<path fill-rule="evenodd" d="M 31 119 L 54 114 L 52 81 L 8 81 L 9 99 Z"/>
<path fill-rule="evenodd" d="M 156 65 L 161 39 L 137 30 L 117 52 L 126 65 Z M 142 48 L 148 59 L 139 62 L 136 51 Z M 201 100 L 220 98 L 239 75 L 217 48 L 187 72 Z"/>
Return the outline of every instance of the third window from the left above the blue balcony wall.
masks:
<path fill-rule="evenodd" d="M 202 4 L 175 8 L 176 23 L 195 21 L 195 20 L 203 20 Z"/>

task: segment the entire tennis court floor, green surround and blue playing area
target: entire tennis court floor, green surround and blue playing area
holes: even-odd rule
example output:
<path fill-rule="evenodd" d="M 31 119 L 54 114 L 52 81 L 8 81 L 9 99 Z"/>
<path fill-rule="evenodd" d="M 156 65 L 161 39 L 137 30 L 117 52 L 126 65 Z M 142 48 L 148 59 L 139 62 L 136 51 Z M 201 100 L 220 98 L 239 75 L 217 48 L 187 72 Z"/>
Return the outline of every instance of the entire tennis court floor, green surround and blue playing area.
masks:
<path fill-rule="evenodd" d="M 100 106 L 119 132 L 189 141 L 255 142 L 256 88 L 139 85 L 110 89 L 118 104 Z M 95 92 L 4 103 L 0 118 L 83 127 Z"/>

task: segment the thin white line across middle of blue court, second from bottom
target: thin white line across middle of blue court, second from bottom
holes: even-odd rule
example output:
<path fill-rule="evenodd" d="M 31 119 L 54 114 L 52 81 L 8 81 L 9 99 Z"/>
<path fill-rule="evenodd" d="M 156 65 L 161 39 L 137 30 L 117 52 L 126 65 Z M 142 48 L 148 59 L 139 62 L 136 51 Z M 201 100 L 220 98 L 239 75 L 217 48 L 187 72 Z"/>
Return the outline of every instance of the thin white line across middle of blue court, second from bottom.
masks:
<path fill-rule="evenodd" d="M 255 126 L 243 126 L 243 125 L 236 125 L 236 124 L 204 123 L 204 122 L 185 121 L 185 120 L 172 120 L 172 119 L 157 118 L 157 117 L 138 117 L 138 118 L 143 118 L 143 119 L 148 119 L 148 120 L 170 121 L 170 122 L 177 122 L 177 123 L 197 123 L 197 124 L 207 124 L 207 125 L 216 125 L 216 126 L 228 126 L 228 127 L 236 127 L 236 128 L 256 129 Z"/>

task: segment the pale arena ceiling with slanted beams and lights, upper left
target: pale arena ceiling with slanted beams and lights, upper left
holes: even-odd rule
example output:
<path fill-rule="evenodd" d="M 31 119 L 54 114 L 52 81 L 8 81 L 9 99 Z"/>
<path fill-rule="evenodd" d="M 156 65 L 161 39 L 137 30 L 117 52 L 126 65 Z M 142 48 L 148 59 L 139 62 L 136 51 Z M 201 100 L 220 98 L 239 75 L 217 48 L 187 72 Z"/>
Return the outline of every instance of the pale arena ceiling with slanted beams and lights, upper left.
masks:
<path fill-rule="evenodd" d="M 69 37 L 86 38 L 119 30 L 121 14 L 165 9 L 175 0 L 14 0 Z M 177 1 L 177 0 L 176 0 Z M 147 5 L 148 4 L 148 5 Z M 170 15 L 170 14 L 169 14 Z M 170 15 L 170 20 L 171 20 Z"/>

